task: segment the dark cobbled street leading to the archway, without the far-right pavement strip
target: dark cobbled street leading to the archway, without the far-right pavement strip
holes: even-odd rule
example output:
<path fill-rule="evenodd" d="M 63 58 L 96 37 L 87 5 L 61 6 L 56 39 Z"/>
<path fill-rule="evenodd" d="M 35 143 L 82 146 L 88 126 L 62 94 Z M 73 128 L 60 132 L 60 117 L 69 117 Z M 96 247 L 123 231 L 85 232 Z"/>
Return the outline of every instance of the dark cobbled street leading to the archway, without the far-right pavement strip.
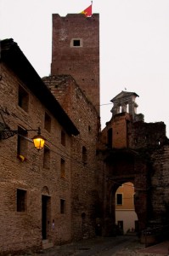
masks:
<path fill-rule="evenodd" d="M 42 256 L 112 256 L 138 255 L 139 249 L 144 249 L 137 236 L 95 237 L 89 240 L 72 242 L 67 245 L 56 246 L 36 254 Z M 129 254 L 132 253 L 132 254 Z"/>

